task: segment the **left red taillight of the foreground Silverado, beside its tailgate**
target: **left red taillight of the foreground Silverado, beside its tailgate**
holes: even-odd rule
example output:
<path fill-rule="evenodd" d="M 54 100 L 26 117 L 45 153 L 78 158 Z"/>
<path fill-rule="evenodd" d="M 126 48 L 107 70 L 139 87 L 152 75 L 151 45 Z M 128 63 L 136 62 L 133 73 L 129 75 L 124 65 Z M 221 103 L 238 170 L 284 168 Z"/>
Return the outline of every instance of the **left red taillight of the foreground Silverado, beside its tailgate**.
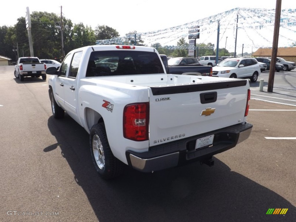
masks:
<path fill-rule="evenodd" d="M 148 140 L 149 103 L 128 104 L 123 110 L 123 136 L 134 141 Z"/>

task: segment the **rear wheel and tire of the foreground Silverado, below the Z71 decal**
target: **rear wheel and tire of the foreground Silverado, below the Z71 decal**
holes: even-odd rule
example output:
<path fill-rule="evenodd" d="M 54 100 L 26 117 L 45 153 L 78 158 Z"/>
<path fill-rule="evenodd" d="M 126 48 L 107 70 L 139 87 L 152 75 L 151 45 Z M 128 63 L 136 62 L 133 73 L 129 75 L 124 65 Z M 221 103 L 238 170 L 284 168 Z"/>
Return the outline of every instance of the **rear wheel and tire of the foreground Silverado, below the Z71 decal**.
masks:
<path fill-rule="evenodd" d="M 102 178 L 112 179 L 122 173 L 123 164 L 110 149 L 104 123 L 91 127 L 89 145 L 94 166 Z"/>

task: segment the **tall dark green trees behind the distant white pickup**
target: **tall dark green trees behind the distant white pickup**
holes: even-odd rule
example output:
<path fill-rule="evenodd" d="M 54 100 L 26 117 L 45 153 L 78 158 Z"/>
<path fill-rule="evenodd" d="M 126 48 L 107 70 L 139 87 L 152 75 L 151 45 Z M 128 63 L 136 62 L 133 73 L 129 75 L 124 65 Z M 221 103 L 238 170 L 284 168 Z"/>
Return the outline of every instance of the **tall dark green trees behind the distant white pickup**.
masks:
<path fill-rule="evenodd" d="M 63 45 L 67 54 L 73 49 L 83 46 L 94 45 L 96 37 L 94 30 L 83 23 L 75 24 L 70 19 L 62 17 L 63 22 Z M 54 13 L 33 12 L 31 13 L 31 35 L 34 56 L 42 59 L 54 59 L 61 57 L 61 18 Z M 17 53 L 12 49 L 18 46 L 19 56 L 30 56 L 28 31 L 26 29 L 25 17 L 17 19 L 14 26 L 0 27 L 0 55 L 17 59 Z"/>

